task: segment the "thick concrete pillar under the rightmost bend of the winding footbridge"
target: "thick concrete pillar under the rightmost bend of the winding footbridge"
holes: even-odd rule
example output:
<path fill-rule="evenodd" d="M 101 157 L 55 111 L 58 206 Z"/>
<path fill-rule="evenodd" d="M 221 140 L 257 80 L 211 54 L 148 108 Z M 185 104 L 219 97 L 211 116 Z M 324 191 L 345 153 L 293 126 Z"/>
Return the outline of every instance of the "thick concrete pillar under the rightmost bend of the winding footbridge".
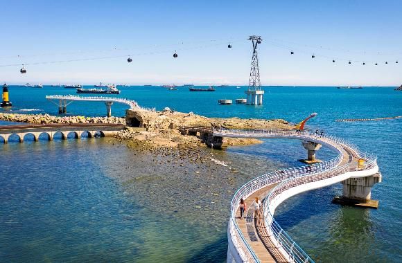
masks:
<path fill-rule="evenodd" d="M 380 172 L 362 178 L 349 178 L 341 183 L 342 197 L 335 197 L 333 203 L 378 208 L 378 200 L 372 200 L 372 187 L 376 183 L 381 183 Z"/>

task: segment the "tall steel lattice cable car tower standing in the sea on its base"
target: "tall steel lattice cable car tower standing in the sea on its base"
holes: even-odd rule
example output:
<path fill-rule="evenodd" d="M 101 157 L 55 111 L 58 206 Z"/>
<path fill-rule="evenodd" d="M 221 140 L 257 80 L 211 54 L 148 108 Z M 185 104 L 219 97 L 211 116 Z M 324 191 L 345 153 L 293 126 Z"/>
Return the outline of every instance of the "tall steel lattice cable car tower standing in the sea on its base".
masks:
<path fill-rule="evenodd" d="M 250 69 L 250 80 L 248 84 L 247 91 L 244 91 L 247 94 L 247 104 L 249 105 L 262 105 L 263 104 L 263 95 L 264 91 L 261 90 L 261 82 L 260 82 L 260 71 L 259 71 L 259 57 L 257 55 L 257 45 L 261 44 L 260 36 L 250 35 L 248 40 L 252 41 L 253 44 L 253 55 L 252 55 L 252 66 Z"/>

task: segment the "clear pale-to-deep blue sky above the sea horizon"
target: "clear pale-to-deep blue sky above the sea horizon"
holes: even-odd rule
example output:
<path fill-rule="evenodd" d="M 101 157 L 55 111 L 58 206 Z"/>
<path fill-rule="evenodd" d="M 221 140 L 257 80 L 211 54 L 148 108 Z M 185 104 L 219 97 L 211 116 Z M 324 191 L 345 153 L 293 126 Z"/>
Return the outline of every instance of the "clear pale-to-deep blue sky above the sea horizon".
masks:
<path fill-rule="evenodd" d="M 0 81 L 10 84 L 247 84 L 249 35 L 263 38 L 265 85 L 402 84 L 400 0 L 0 0 L 0 6 Z M 100 57 L 112 58 L 33 64 Z M 19 65 L 2 66 L 24 63 L 26 74 Z"/>

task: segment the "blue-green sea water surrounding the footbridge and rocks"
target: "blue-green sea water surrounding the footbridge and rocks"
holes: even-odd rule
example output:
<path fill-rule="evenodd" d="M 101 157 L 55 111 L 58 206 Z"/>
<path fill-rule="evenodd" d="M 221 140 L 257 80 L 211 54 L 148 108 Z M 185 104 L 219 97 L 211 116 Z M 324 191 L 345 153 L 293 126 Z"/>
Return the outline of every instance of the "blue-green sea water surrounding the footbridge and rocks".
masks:
<path fill-rule="evenodd" d="M 317 112 L 309 121 L 311 129 L 347 138 L 378 156 L 383 182 L 374 186 L 372 198 L 380 207 L 331 204 L 342 192 L 340 184 L 331 185 L 283 203 L 277 210 L 279 223 L 317 262 L 402 262 L 402 120 L 334 121 L 402 116 L 401 92 L 390 87 L 266 87 L 264 105 L 254 107 L 217 104 L 218 99 L 244 98 L 243 88 L 236 87 L 204 93 L 121 90 L 120 97 L 144 107 L 212 117 L 296 123 Z M 15 105 L 10 112 L 56 114 L 57 107 L 44 96 L 73 92 L 10 87 Z M 98 102 L 73 102 L 67 109 L 73 115 L 105 114 Z M 123 116 L 124 110 L 123 105 L 112 106 L 114 116 Z M 108 138 L 26 140 L 0 145 L 0 262 L 224 262 L 234 191 L 254 176 L 299 165 L 297 158 L 306 155 L 300 142 L 265 140 L 212 151 L 231 170 L 192 163 L 182 169 Z M 317 156 L 326 159 L 333 153 L 320 149 Z"/>

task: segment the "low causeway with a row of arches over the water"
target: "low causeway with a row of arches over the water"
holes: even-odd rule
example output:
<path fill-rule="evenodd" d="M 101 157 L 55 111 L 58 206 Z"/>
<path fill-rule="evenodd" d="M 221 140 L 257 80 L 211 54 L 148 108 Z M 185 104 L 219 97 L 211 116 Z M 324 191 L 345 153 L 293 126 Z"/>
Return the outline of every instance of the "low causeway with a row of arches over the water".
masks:
<path fill-rule="evenodd" d="M 71 133 L 74 138 L 80 138 L 84 133 L 89 138 L 96 135 L 105 137 L 120 131 L 124 127 L 125 125 L 103 123 L 0 125 L 0 138 L 3 138 L 4 143 L 8 143 L 8 138 L 15 134 L 18 136 L 19 142 L 22 143 L 27 134 L 32 134 L 35 141 L 39 140 L 41 134 L 46 134 L 49 140 L 53 140 L 57 133 L 61 134 L 62 139 L 67 139 Z"/>

